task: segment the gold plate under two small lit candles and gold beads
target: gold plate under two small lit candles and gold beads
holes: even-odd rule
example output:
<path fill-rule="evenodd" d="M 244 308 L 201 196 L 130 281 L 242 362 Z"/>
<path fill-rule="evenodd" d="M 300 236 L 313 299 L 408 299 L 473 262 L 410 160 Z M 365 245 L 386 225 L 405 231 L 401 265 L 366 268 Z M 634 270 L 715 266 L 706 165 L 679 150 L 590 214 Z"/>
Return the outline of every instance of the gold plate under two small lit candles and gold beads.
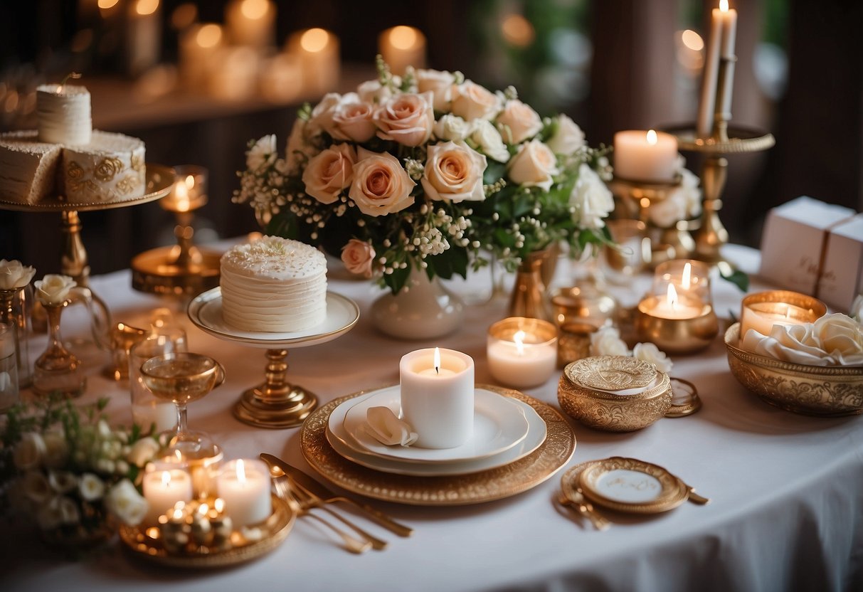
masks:
<path fill-rule="evenodd" d="M 135 557 L 142 557 L 154 564 L 192 569 L 211 569 L 243 564 L 274 551 L 291 532 L 297 514 L 287 502 L 272 495 L 273 513 L 264 522 L 260 540 L 230 549 L 219 550 L 202 547 L 198 553 L 168 553 L 158 538 L 149 537 L 136 526 L 122 526 L 120 539 Z M 236 532 L 235 532 L 236 535 Z"/>

